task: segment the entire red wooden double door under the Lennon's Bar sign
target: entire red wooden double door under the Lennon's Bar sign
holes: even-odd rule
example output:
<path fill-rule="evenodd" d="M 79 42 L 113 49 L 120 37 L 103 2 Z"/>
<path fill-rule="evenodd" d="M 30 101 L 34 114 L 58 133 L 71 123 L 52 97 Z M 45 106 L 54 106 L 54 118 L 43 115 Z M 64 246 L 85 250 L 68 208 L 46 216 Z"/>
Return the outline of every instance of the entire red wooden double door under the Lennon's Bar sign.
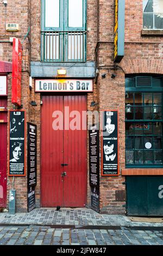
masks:
<path fill-rule="evenodd" d="M 45 95 L 41 111 L 42 207 L 86 203 L 86 96 Z"/>

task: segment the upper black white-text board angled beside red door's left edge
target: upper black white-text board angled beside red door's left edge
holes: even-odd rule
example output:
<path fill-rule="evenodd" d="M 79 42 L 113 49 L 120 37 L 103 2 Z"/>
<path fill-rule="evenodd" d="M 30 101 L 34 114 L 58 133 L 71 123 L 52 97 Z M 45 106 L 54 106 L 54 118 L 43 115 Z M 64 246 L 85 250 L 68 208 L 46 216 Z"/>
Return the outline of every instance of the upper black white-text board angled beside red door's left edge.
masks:
<path fill-rule="evenodd" d="M 28 170 L 28 188 L 36 186 L 37 170 L 37 126 L 33 123 L 27 123 L 27 170 Z"/>

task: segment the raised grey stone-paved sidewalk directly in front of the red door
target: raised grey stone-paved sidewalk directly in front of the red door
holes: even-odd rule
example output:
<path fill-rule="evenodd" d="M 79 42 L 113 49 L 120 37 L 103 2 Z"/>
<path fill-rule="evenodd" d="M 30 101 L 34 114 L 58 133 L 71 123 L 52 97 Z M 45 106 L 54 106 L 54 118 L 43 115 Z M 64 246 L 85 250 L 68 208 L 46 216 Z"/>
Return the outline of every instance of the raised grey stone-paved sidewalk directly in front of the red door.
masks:
<path fill-rule="evenodd" d="M 1 224 L 39 224 L 39 225 L 76 225 L 76 226 L 146 226 L 163 227 L 163 223 L 132 222 L 123 215 L 102 215 L 86 208 L 34 209 L 29 213 L 0 213 Z"/>

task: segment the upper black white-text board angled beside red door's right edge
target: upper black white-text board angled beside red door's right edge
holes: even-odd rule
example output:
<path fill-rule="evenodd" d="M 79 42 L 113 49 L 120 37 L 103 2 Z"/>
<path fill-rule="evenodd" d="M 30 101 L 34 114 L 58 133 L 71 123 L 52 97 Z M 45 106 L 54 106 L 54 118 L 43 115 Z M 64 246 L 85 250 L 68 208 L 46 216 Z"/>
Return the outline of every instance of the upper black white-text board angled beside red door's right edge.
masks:
<path fill-rule="evenodd" d="M 90 186 L 99 188 L 99 129 L 97 124 L 89 127 Z"/>

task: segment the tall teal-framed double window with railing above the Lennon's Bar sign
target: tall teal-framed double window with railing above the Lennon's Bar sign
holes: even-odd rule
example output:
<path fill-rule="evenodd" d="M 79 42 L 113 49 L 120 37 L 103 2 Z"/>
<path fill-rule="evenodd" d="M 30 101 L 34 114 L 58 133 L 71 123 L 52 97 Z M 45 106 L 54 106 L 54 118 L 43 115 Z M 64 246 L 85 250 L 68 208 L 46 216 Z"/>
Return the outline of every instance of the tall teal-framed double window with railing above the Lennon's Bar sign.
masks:
<path fill-rule="evenodd" d="M 86 59 L 86 0 L 42 0 L 41 59 Z"/>

